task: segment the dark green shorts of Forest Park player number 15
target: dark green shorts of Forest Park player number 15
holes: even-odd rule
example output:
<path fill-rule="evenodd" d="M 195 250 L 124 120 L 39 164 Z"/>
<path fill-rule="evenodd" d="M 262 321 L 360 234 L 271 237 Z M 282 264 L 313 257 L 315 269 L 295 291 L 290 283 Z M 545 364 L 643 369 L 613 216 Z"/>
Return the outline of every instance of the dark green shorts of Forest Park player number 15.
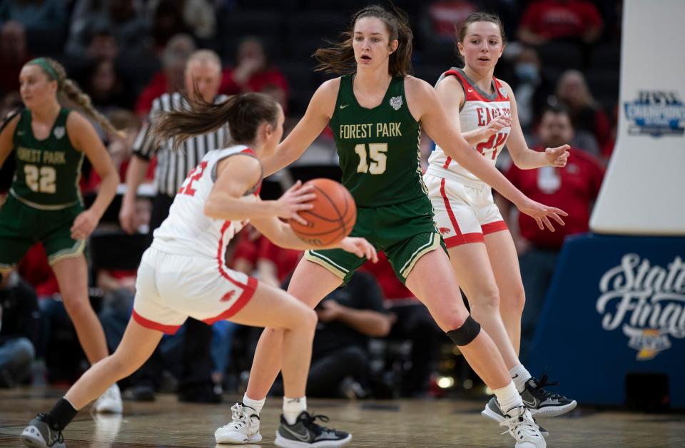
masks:
<path fill-rule="evenodd" d="M 447 252 L 427 197 L 385 207 L 357 208 L 357 222 L 350 235 L 366 238 L 376 250 L 385 252 L 402 283 L 423 255 L 440 246 Z M 366 261 L 342 249 L 308 250 L 305 258 L 322 265 L 345 283 Z"/>

